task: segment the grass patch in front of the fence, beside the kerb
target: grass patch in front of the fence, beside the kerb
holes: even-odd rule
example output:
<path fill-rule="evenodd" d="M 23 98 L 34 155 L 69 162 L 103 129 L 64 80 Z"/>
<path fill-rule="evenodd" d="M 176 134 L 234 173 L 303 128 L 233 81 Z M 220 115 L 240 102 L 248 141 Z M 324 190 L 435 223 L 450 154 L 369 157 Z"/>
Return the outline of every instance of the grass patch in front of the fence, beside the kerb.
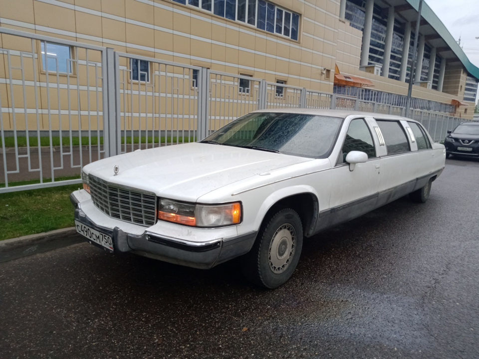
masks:
<path fill-rule="evenodd" d="M 1 193 L 0 240 L 72 227 L 73 206 L 69 195 L 80 186 Z"/>

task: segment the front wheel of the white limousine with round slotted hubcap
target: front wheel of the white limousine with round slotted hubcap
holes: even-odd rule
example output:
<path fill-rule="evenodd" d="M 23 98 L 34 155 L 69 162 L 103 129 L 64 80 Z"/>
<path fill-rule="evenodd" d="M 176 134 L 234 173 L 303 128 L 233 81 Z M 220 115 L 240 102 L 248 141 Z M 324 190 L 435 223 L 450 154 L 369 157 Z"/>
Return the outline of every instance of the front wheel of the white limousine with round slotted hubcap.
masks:
<path fill-rule="evenodd" d="M 242 258 L 241 269 L 248 281 L 273 289 L 293 274 L 303 246 L 299 215 L 284 208 L 266 218 L 251 250 Z"/>

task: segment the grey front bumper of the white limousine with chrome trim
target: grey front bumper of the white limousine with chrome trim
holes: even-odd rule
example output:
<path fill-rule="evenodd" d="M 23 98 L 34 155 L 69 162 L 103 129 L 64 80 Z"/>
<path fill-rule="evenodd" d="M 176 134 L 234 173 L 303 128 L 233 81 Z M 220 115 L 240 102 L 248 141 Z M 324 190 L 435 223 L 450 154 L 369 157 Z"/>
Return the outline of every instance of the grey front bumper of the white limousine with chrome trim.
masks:
<path fill-rule="evenodd" d="M 256 239 L 257 232 L 229 238 L 214 238 L 206 242 L 193 242 L 145 231 L 131 234 L 119 226 L 105 227 L 95 223 L 81 209 L 81 203 L 70 194 L 77 221 L 113 238 L 114 252 L 132 252 L 145 257 L 180 264 L 193 268 L 208 269 L 247 253 Z M 88 241 L 87 238 L 85 238 Z M 90 242 L 92 243 L 92 242 Z"/>

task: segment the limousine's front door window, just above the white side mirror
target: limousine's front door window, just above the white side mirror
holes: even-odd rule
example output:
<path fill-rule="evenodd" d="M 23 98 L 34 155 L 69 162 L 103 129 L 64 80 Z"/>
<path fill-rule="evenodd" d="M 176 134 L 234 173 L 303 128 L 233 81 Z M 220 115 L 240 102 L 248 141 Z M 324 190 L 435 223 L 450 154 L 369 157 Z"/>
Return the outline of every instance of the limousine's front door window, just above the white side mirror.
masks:
<path fill-rule="evenodd" d="M 368 158 L 376 157 L 373 137 L 363 119 L 352 120 L 349 124 L 343 145 L 343 160 L 346 159 L 346 155 L 351 151 L 365 152 Z"/>

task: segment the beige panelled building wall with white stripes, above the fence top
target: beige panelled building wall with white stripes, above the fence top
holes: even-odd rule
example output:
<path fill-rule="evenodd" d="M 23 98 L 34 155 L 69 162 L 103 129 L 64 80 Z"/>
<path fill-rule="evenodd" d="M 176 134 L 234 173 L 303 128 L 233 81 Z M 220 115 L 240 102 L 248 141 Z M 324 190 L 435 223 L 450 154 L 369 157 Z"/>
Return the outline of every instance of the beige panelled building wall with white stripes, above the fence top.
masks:
<path fill-rule="evenodd" d="M 298 41 L 169 0 L 1 0 L 0 25 L 331 91 L 321 69 L 334 68 L 339 4 L 275 3 L 301 14 Z"/>

